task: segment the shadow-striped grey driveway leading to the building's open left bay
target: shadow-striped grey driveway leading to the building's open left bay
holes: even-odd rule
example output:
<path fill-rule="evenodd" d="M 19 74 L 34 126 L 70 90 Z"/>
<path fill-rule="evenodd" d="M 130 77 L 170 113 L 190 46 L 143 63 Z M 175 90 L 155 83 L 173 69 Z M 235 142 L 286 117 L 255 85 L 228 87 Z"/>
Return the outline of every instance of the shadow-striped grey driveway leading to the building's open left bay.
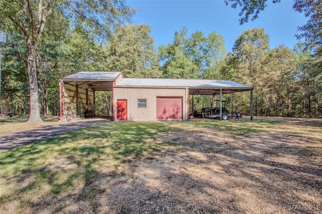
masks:
<path fill-rule="evenodd" d="M 107 122 L 110 121 L 102 118 L 91 118 L 59 123 L 58 125 L 47 125 L 35 129 L 28 129 L 25 131 L 0 134 L 0 152 L 7 151 L 18 146 L 27 145 L 49 137 L 54 137 L 59 134 L 86 127 L 96 126 Z"/>

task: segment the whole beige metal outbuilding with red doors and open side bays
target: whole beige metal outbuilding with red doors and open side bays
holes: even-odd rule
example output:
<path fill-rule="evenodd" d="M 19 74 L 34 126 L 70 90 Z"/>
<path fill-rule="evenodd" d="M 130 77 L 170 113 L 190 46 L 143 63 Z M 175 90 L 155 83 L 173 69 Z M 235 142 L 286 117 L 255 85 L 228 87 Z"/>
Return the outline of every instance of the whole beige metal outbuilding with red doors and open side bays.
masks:
<path fill-rule="evenodd" d="M 121 72 L 79 72 L 60 79 L 60 121 L 95 111 L 95 92 L 112 92 L 113 120 L 188 120 L 189 95 L 221 95 L 253 87 L 226 80 L 123 78 Z"/>

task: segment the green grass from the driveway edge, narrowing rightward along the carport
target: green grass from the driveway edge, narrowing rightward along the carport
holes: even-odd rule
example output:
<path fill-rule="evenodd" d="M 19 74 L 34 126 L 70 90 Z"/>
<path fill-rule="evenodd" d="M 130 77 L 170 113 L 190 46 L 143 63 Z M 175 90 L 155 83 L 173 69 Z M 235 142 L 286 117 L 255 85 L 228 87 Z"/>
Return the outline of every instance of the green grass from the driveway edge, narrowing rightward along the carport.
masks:
<path fill-rule="evenodd" d="M 62 134 L 37 143 L 0 153 L 0 203 L 19 201 L 19 207 L 32 207 L 39 197 L 55 197 L 97 176 L 114 177 L 122 163 L 137 158 L 153 159 L 159 150 L 154 135 L 160 132 L 214 129 L 218 133 L 246 137 L 256 133 L 283 132 L 282 121 L 200 120 L 192 122 L 106 123 Z M 318 136 L 320 127 L 288 130 L 296 135 Z M 313 150 L 311 153 L 320 152 Z M 127 173 L 127 172 L 121 172 Z M 87 197 L 91 197 L 88 194 Z"/>

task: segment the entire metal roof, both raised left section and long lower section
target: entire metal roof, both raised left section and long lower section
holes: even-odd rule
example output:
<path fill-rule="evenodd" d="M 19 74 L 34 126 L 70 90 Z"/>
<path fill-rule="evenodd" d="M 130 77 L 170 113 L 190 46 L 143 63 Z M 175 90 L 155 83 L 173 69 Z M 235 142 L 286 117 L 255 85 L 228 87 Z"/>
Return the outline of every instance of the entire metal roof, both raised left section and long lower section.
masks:
<path fill-rule="evenodd" d="M 122 78 L 121 72 L 78 72 L 60 78 L 64 84 L 91 88 L 95 91 L 112 91 L 113 81 Z M 229 80 L 197 80 L 197 79 L 149 79 L 149 78 L 123 78 L 116 81 L 115 87 L 124 88 L 189 88 L 189 94 L 213 95 L 250 91 L 251 86 L 232 82 Z"/>

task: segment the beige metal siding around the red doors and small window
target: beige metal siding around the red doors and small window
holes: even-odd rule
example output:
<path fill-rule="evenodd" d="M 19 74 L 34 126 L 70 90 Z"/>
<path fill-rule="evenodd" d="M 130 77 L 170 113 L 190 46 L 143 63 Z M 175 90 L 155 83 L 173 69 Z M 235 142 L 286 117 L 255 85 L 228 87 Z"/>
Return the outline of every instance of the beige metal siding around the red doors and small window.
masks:
<path fill-rule="evenodd" d="M 156 97 L 182 97 L 183 119 L 187 118 L 187 89 L 185 88 L 117 88 L 113 98 L 114 120 L 117 120 L 116 100 L 127 100 L 127 119 L 129 121 L 156 120 Z M 146 99 L 146 108 L 138 107 L 138 99 Z"/>

